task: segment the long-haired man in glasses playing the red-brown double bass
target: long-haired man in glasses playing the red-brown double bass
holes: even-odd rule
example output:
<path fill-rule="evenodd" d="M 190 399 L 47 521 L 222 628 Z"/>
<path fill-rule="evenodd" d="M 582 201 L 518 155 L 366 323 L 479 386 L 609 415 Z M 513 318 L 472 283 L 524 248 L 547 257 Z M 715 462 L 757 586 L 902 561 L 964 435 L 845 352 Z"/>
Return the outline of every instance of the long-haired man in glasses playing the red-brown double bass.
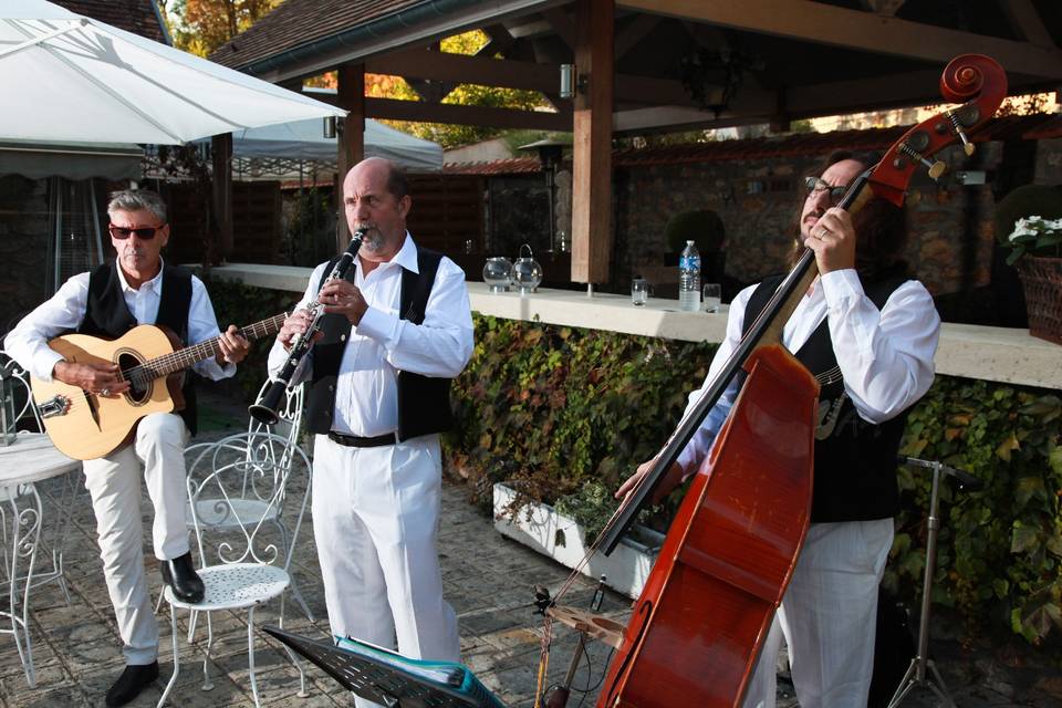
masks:
<path fill-rule="evenodd" d="M 785 323 L 782 343 L 821 384 L 811 527 L 749 681 L 747 707 L 774 706 L 784 636 L 803 708 L 865 706 L 873 674 L 877 589 L 898 511 L 895 457 L 906 414 L 929 389 L 940 319 L 900 259 L 904 214 L 874 199 L 852 216 L 836 204 L 876 163 L 837 152 L 805 178 L 795 258 L 814 251 L 820 277 Z M 716 377 L 781 278 L 741 291 L 706 379 Z M 693 407 L 704 391 L 690 394 Z M 731 383 L 657 489 L 657 498 L 708 456 L 738 393 Z M 647 475 L 645 462 L 617 490 Z"/>

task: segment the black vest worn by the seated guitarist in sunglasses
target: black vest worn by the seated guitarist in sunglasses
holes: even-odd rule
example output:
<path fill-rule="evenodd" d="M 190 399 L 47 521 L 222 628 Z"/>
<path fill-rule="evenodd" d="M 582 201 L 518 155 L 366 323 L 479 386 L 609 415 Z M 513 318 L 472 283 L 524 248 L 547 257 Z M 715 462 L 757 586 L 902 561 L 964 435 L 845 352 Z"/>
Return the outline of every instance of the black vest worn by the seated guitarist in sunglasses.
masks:
<path fill-rule="evenodd" d="M 183 343 L 188 342 L 188 310 L 191 306 L 191 273 L 175 266 L 163 266 L 163 293 L 158 302 L 158 314 L 154 324 L 162 325 L 177 335 Z M 136 326 L 136 317 L 129 312 L 122 294 L 122 281 L 118 279 L 116 263 L 104 263 L 88 277 L 88 302 L 85 316 L 77 327 L 81 334 L 116 340 Z M 181 393 L 185 396 L 184 409 L 177 414 L 192 435 L 196 433 L 196 391 L 195 377 L 185 374 Z"/>

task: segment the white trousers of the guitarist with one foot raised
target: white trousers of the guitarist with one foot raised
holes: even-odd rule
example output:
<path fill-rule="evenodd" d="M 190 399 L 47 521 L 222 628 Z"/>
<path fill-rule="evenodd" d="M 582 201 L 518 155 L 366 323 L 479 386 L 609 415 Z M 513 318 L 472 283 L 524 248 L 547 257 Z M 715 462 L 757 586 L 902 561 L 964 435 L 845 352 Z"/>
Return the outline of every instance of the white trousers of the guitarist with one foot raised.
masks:
<path fill-rule="evenodd" d="M 132 445 L 85 461 L 85 487 L 96 514 L 100 558 L 126 664 L 150 664 L 158 657 L 158 625 L 144 571 L 140 468 L 155 507 L 155 558 L 167 561 L 184 555 L 189 549 L 185 525 L 187 441 L 188 429 L 179 416 L 153 413 L 140 419 Z"/>

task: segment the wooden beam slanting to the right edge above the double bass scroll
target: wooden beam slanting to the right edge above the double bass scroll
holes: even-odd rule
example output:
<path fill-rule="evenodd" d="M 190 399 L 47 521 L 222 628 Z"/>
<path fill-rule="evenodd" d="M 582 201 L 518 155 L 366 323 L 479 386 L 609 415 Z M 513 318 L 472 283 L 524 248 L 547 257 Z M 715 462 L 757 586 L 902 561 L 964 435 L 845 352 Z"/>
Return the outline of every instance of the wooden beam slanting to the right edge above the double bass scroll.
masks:
<path fill-rule="evenodd" d="M 746 32 L 947 63 L 976 52 L 1008 72 L 1062 79 L 1062 50 L 847 10 L 811 0 L 616 0 L 618 7 Z"/>

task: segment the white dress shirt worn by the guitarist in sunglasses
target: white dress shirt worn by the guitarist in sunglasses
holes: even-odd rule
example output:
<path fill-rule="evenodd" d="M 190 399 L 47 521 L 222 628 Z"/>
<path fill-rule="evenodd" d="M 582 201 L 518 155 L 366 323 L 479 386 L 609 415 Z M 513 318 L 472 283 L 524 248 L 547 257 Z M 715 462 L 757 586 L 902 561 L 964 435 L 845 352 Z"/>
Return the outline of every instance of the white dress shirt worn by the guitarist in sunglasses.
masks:
<path fill-rule="evenodd" d="M 55 368 L 55 364 L 63 361 L 61 354 L 48 346 L 49 340 L 76 330 L 85 316 L 90 275 L 91 273 L 87 272 L 79 273 L 63 283 L 54 295 L 23 317 L 3 341 L 4 350 L 11 358 L 41 381 L 52 381 L 52 369 Z M 159 269 L 158 275 L 139 288 L 132 288 L 122 268 L 118 267 L 118 282 L 125 304 L 129 308 L 129 313 L 133 314 L 136 323 L 155 324 L 163 293 L 163 269 Z M 192 275 L 187 344 L 189 346 L 199 344 L 220 334 L 214 306 L 210 304 L 210 295 L 207 294 L 202 281 Z M 236 373 L 235 364 L 219 366 L 212 356 L 197 362 L 192 368 L 214 381 L 228 378 Z"/>

